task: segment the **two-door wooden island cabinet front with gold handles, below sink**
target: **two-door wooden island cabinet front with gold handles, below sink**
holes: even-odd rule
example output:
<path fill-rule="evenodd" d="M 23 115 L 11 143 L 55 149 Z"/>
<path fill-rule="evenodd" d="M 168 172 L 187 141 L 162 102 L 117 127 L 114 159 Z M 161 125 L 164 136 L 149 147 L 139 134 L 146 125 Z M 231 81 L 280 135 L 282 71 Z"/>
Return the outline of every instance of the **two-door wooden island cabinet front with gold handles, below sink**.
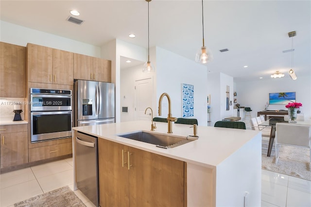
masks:
<path fill-rule="evenodd" d="M 98 139 L 101 207 L 184 207 L 185 163 Z"/>

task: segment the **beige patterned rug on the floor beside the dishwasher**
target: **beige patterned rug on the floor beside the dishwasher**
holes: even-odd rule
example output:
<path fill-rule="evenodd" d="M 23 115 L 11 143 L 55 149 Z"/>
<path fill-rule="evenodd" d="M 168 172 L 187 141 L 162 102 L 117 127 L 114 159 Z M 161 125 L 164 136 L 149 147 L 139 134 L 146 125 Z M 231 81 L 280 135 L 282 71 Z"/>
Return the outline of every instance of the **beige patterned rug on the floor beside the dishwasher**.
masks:
<path fill-rule="evenodd" d="M 86 207 L 68 186 L 14 204 L 15 207 Z"/>

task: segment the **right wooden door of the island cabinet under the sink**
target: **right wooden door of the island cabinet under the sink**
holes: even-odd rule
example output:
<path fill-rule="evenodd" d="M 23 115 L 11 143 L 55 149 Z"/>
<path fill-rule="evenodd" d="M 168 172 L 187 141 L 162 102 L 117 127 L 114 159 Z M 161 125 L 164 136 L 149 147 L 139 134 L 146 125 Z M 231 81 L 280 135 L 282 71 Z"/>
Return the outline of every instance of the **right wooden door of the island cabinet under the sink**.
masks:
<path fill-rule="evenodd" d="M 130 207 L 183 207 L 184 162 L 129 147 Z"/>

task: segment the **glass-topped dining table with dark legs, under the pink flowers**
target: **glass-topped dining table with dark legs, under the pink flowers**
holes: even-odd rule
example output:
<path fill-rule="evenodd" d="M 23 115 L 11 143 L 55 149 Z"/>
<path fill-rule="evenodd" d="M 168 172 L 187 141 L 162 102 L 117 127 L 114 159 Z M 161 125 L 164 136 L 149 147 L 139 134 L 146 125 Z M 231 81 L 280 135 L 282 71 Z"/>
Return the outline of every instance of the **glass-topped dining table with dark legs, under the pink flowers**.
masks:
<path fill-rule="evenodd" d="M 278 122 L 289 123 L 289 121 L 271 118 L 267 121 L 263 121 L 263 122 L 258 124 L 258 126 L 261 126 L 261 127 L 271 127 L 267 156 L 271 155 L 273 142 L 274 142 L 274 139 L 276 137 L 276 123 L 278 123 Z M 293 124 L 311 125 L 311 119 L 305 120 L 305 121 L 295 121 Z"/>

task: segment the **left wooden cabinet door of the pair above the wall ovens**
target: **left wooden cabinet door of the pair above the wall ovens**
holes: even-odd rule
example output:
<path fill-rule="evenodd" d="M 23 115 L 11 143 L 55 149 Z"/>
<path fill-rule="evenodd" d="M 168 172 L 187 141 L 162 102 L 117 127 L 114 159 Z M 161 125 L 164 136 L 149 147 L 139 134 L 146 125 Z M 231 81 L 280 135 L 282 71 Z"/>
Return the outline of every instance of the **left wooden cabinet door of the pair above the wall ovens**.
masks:
<path fill-rule="evenodd" d="M 52 83 L 53 49 L 27 44 L 28 82 Z"/>

